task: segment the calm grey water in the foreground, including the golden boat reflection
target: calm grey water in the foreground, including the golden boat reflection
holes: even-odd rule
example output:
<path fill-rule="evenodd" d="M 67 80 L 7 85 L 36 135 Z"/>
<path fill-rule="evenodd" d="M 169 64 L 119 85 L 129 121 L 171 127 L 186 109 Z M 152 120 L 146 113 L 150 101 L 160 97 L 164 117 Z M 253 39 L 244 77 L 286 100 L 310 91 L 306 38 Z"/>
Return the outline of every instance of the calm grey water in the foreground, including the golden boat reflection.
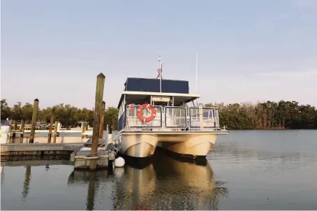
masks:
<path fill-rule="evenodd" d="M 1 209 L 316 210 L 316 150 L 317 131 L 231 131 L 199 165 L 161 152 L 113 172 L 1 163 Z"/>

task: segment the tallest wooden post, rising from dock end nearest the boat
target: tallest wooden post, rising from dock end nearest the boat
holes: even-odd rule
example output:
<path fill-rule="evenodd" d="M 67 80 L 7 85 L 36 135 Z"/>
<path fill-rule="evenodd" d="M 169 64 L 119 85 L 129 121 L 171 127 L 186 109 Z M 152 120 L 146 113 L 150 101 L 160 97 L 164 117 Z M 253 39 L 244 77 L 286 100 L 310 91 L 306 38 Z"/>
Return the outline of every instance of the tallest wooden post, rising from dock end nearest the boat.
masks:
<path fill-rule="evenodd" d="M 101 117 L 104 86 L 105 86 L 105 75 L 103 75 L 103 73 L 100 73 L 97 76 L 97 85 L 96 85 L 94 126 L 92 130 L 92 141 L 91 141 L 91 157 L 98 156 L 97 150 L 98 150 L 98 141 L 99 141 L 100 117 Z M 96 168 L 97 168 L 97 159 L 91 159 L 89 163 L 89 169 L 95 170 Z"/>

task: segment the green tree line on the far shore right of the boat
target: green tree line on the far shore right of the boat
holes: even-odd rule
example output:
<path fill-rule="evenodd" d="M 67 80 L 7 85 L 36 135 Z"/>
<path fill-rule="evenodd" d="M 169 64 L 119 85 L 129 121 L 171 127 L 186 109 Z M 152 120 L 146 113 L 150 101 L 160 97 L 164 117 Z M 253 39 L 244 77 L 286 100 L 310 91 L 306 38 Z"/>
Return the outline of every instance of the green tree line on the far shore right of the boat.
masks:
<path fill-rule="evenodd" d="M 317 129 L 314 106 L 296 101 L 263 103 L 208 103 L 219 108 L 219 123 L 228 129 Z"/>

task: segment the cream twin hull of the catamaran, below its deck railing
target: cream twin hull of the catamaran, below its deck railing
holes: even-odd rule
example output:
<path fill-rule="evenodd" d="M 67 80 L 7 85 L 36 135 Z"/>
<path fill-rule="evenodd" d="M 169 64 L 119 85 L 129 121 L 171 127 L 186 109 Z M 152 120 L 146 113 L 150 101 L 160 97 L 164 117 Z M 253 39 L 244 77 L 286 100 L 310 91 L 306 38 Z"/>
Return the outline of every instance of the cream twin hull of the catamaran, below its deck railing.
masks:
<path fill-rule="evenodd" d="M 156 147 L 177 154 L 206 157 L 223 131 L 127 131 L 121 133 L 120 153 L 130 157 L 149 157 Z"/>

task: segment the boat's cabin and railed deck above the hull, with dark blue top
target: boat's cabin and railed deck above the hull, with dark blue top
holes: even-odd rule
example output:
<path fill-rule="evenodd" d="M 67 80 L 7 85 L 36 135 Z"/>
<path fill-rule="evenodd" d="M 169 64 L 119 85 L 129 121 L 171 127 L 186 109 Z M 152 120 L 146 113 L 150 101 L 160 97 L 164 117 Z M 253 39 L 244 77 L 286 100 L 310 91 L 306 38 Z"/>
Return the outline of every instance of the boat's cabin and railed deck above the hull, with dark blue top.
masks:
<path fill-rule="evenodd" d="M 117 107 L 118 131 L 219 129 L 218 108 L 195 105 L 199 97 L 189 94 L 188 81 L 128 78 Z M 144 109 L 140 115 L 143 104 L 151 105 L 152 111 Z"/>

